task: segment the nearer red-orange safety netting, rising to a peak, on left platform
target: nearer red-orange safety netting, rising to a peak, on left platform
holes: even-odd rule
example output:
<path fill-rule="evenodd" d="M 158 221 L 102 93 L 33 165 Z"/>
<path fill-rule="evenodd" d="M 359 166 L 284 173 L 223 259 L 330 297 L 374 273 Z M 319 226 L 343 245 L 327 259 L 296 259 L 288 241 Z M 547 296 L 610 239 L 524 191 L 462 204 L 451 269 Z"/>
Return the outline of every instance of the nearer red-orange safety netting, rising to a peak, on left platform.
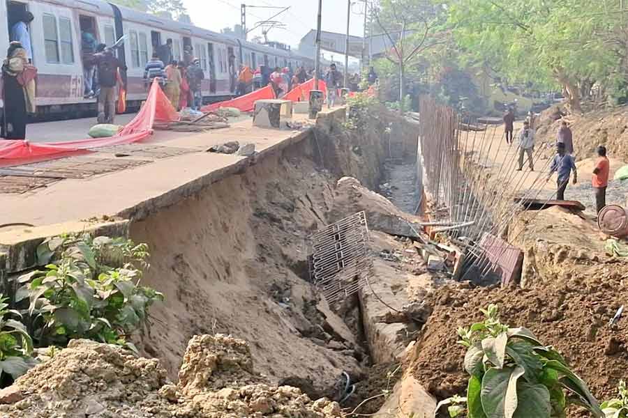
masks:
<path fill-rule="evenodd" d="M 32 143 L 28 140 L 0 140 L 0 160 L 29 160 L 100 146 L 130 144 L 149 137 L 153 133 L 155 121 L 172 122 L 178 120 L 177 109 L 172 107 L 159 83 L 155 81 L 142 109 L 135 115 L 133 121 L 130 121 L 113 137 L 45 143 Z"/>

